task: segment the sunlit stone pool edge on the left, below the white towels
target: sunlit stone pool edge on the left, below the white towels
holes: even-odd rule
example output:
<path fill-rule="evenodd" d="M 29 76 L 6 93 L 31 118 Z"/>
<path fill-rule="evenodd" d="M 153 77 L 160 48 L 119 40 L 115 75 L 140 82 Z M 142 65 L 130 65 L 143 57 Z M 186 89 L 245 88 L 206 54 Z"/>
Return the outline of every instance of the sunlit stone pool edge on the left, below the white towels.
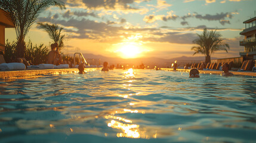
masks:
<path fill-rule="evenodd" d="M 85 71 L 101 70 L 102 68 L 85 68 Z M 29 70 L 2 70 L 0 71 L 0 79 L 11 79 L 18 77 L 36 76 L 42 74 L 62 74 L 62 73 L 78 73 L 78 69 L 29 69 Z"/>

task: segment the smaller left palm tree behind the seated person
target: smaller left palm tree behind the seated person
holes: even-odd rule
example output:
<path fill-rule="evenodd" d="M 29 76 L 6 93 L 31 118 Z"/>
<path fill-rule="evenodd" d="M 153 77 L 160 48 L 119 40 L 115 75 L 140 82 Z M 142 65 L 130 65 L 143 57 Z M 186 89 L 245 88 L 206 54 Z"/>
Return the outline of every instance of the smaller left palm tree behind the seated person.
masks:
<path fill-rule="evenodd" d="M 58 50 L 60 51 L 61 48 L 64 46 L 63 41 L 65 35 L 61 35 L 61 31 L 63 27 L 58 26 L 57 24 L 48 24 L 48 23 L 38 23 L 39 29 L 44 29 L 51 39 L 53 39 L 54 43 L 58 43 Z"/>

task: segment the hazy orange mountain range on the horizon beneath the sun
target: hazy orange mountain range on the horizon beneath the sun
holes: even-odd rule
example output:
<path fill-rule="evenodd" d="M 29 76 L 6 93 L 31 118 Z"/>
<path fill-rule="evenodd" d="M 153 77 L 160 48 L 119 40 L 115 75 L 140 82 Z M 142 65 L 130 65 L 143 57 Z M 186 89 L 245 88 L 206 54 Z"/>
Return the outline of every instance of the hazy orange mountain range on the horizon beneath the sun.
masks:
<path fill-rule="evenodd" d="M 150 57 L 150 58 L 111 58 L 111 57 L 104 57 L 103 55 L 94 55 L 94 54 L 83 54 L 84 57 L 89 61 L 91 59 L 100 59 L 100 64 L 103 64 L 104 61 L 107 61 L 109 65 L 111 64 L 121 64 L 121 65 L 129 65 L 129 66 L 138 66 L 140 64 L 144 64 L 146 66 L 154 67 L 170 67 L 172 63 L 174 63 L 175 60 L 177 60 L 178 66 L 183 67 L 186 63 L 198 63 L 200 61 L 204 61 L 205 57 L 176 57 L 176 58 L 170 58 L 170 59 L 164 59 L 164 58 L 156 58 L 156 57 Z M 211 59 L 216 59 L 212 57 Z"/>

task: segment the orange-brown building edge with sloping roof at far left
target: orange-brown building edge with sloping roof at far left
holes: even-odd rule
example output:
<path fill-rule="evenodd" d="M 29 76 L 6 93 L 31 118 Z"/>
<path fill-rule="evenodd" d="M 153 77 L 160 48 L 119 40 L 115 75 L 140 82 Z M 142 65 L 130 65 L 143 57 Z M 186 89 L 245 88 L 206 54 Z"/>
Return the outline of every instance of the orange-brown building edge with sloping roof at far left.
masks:
<path fill-rule="evenodd" d="M 14 28 L 14 24 L 5 16 L 5 11 L 0 9 L 0 51 L 5 51 L 5 28 Z"/>

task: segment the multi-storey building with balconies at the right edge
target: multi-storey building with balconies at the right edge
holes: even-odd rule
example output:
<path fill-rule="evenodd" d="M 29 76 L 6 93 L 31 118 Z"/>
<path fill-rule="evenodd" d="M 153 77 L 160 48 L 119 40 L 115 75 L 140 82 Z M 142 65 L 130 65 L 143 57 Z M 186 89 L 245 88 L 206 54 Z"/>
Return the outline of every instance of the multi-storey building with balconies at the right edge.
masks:
<path fill-rule="evenodd" d="M 240 35 L 245 36 L 245 39 L 239 42 L 240 46 L 244 46 L 244 51 L 239 52 L 243 60 L 256 60 L 256 17 L 243 21 L 245 29 L 240 32 Z"/>

